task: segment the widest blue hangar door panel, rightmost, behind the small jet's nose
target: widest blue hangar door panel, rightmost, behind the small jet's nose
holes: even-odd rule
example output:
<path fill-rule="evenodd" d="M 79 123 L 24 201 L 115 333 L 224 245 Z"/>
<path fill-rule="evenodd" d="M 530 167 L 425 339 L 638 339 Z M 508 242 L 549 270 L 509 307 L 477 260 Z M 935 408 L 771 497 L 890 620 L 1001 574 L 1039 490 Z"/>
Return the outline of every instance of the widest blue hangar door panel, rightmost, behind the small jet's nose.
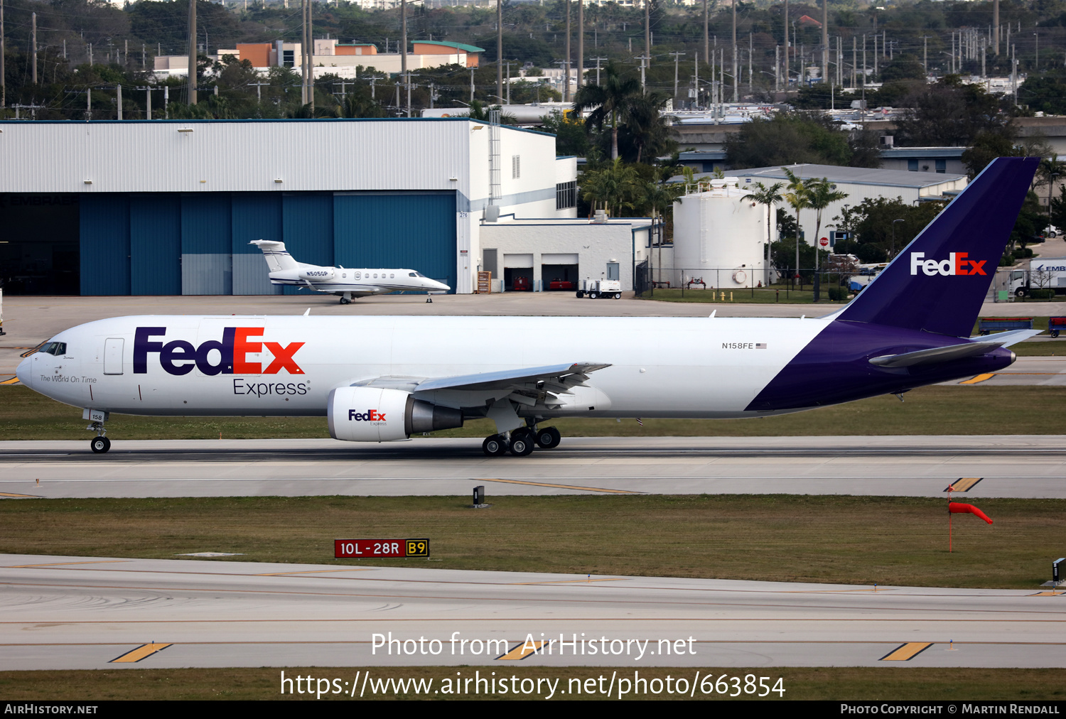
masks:
<path fill-rule="evenodd" d="M 403 267 L 455 292 L 455 193 L 334 193 L 334 264 Z"/>

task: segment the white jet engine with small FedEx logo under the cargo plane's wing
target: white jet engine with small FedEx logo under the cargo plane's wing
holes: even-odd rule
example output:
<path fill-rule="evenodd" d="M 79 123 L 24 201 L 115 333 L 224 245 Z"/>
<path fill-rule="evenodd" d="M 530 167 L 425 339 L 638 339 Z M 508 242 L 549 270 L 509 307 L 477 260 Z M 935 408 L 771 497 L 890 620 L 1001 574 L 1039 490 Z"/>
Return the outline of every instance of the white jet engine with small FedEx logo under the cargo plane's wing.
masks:
<path fill-rule="evenodd" d="M 329 436 L 346 442 L 390 442 L 418 431 L 463 426 L 463 410 L 416 399 L 403 390 L 341 387 L 326 405 Z"/>

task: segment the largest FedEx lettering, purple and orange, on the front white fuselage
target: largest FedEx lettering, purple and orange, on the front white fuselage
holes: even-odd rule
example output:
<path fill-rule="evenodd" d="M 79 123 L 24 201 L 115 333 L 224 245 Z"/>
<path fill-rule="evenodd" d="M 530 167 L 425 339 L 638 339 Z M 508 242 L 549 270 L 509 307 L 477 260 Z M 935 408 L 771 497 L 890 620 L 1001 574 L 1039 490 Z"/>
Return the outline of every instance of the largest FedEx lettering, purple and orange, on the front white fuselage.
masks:
<path fill-rule="evenodd" d="M 278 342 L 262 342 L 256 339 L 262 337 L 262 327 L 225 327 L 222 340 L 208 340 L 199 346 L 185 340 L 164 343 L 152 339 L 165 334 L 165 327 L 136 328 L 133 336 L 133 374 L 148 373 L 148 355 L 158 355 L 163 371 L 178 376 L 189 374 L 193 367 L 209 376 L 276 375 L 282 370 L 290 375 L 304 374 L 293 359 L 304 343 L 281 345 Z M 263 367 L 261 362 L 247 360 L 249 354 L 261 353 L 263 347 L 274 356 L 270 364 Z"/>

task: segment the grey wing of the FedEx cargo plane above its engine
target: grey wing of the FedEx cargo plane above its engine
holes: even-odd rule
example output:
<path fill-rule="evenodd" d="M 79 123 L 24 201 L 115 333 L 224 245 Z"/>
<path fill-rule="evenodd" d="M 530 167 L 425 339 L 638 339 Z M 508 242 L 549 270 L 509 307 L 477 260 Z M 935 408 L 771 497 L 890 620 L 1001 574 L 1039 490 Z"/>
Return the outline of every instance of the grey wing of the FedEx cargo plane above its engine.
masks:
<path fill-rule="evenodd" d="M 549 364 L 538 367 L 519 367 L 499 372 L 481 372 L 452 377 L 376 377 L 356 382 L 357 387 L 403 389 L 408 392 L 435 390 L 459 391 L 521 391 L 539 389 L 552 394 L 569 394 L 570 389 L 583 385 L 588 374 L 611 366 L 598 362 Z"/>

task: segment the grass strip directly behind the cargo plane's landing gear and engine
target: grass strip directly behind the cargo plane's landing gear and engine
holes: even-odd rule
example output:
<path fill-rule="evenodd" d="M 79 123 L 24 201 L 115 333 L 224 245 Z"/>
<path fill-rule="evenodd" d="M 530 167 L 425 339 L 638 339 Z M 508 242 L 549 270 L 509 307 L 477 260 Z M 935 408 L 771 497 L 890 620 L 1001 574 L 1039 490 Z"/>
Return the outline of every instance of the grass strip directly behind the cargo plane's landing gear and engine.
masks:
<path fill-rule="evenodd" d="M 26 387 L 0 388 L 0 437 L 85 440 L 81 410 Z M 876 435 L 1055 435 L 1066 427 L 1066 388 L 924 387 L 901 403 L 885 395 L 844 405 L 745 420 L 556 420 L 563 437 L 779 437 Z M 488 420 L 435 437 L 487 437 Z M 114 414 L 112 440 L 328 438 L 325 418 L 159 418 Z M 564 439 L 565 441 L 565 439 Z"/>

